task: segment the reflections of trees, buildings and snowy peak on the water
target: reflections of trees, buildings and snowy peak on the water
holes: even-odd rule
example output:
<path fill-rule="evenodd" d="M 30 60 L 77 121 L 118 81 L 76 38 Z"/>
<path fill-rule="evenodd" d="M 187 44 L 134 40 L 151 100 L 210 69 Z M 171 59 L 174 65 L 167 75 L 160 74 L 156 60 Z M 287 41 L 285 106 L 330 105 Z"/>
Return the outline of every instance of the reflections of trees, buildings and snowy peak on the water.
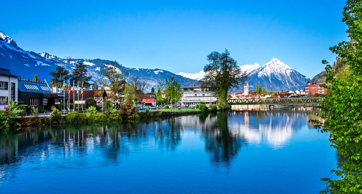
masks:
<path fill-rule="evenodd" d="M 315 111 L 300 108 L 276 108 L 127 123 L 30 127 L 22 129 L 24 132 L 0 136 L 0 164 L 16 163 L 35 155 L 51 157 L 52 150 L 61 150 L 64 158 L 97 153 L 119 162 L 145 149 L 174 152 L 184 136 L 196 135 L 203 141 L 211 164 L 230 165 L 243 146 L 250 143 L 281 148 L 314 115 Z"/>

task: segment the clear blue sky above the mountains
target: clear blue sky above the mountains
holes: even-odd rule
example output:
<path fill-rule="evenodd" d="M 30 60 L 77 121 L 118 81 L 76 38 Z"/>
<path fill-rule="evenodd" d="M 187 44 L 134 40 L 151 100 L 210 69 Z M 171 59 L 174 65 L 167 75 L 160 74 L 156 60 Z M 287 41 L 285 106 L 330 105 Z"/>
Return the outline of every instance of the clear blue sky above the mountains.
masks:
<path fill-rule="evenodd" d="M 196 73 L 227 48 L 239 65 L 275 57 L 312 78 L 348 40 L 344 1 L 7 1 L 0 30 L 24 50 Z"/>

